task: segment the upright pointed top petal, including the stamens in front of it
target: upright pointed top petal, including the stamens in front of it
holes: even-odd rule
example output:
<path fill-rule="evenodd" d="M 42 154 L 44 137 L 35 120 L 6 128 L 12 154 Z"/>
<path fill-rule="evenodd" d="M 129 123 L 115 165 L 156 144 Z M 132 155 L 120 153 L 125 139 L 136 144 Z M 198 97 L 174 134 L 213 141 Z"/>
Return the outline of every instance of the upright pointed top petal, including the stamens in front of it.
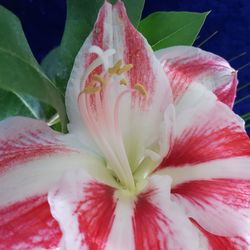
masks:
<path fill-rule="evenodd" d="M 97 145 L 119 180 L 133 187 L 132 171 L 160 140 L 171 103 L 167 77 L 124 4 L 105 1 L 67 87 L 69 131 L 78 138 L 86 133 L 81 140 Z"/>

